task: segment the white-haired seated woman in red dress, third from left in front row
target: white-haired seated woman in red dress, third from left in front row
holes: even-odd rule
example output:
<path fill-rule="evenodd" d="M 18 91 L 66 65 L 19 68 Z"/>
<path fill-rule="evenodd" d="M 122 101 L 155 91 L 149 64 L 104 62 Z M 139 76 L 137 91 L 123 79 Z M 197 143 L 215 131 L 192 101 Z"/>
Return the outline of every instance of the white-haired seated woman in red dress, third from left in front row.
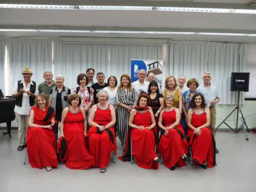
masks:
<path fill-rule="evenodd" d="M 116 114 L 114 106 L 107 102 L 109 93 L 101 90 L 96 97 L 99 103 L 92 106 L 88 119 L 88 143 L 94 158 L 94 167 L 100 168 L 100 173 L 105 173 L 113 150 L 116 155 Z"/>

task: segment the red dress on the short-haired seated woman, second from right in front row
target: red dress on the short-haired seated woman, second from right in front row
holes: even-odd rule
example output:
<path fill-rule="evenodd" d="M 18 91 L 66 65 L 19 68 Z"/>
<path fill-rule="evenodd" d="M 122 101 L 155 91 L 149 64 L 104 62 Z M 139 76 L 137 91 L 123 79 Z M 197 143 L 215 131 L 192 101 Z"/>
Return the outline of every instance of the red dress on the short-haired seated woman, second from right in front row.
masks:
<path fill-rule="evenodd" d="M 169 112 L 164 111 L 162 117 L 165 127 L 172 125 L 176 121 L 175 109 Z M 183 127 L 179 124 L 175 129 L 170 129 L 168 133 L 169 136 L 165 136 L 164 134 L 161 136 L 159 144 L 159 151 L 163 157 L 163 163 L 166 168 L 171 168 L 176 163 L 178 163 L 178 167 L 182 167 L 186 165 L 186 162 L 181 156 L 188 154 L 189 147 Z"/>

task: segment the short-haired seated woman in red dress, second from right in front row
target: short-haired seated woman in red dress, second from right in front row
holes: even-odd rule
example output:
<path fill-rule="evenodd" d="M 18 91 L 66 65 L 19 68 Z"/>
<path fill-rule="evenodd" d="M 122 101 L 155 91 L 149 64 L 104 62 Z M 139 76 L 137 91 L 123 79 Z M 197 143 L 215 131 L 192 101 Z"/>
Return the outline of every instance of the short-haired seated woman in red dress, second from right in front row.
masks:
<path fill-rule="evenodd" d="M 188 142 L 185 132 L 180 124 L 180 111 L 173 106 L 174 97 L 165 97 L 165 109 L 159 116 L 159 127 L 164 131 L 159 144 L 159 152 L 163 157 L 163 163 L 171 171 L 176 166 L 186 165 L 186 154 L 188 154 Z M 164 126 L 163 126 L 164 122 Z"/>

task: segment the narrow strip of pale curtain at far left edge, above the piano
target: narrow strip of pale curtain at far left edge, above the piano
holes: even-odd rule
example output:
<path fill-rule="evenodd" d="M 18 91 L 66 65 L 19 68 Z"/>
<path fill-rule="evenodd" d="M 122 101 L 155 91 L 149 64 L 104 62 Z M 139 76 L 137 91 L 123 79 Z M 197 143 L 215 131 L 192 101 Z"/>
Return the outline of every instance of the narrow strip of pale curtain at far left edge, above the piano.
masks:
<path fill-rule="evenodd" d="M 6 50 L 6 39 L 0 38 L 0 89 L 5 95 L 4 88 L 4 55 Z"/>

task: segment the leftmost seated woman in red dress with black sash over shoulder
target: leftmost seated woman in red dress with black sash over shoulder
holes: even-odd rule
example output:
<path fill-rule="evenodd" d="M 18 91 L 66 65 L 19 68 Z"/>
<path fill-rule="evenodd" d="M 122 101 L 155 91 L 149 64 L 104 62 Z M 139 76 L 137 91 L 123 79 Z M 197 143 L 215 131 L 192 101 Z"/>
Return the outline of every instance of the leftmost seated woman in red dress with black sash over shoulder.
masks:
<path fill-rule="evenodd" d="M 56 124 L 55 111 L 48 106 L 48 96 L 39 93 L 35 107 L 32 107 L 27 130 L 28 160 L 32 168 L 46 168 L 51 171 L 57 168 L 55 153 L 56 136 L 53 126 Z"/>

